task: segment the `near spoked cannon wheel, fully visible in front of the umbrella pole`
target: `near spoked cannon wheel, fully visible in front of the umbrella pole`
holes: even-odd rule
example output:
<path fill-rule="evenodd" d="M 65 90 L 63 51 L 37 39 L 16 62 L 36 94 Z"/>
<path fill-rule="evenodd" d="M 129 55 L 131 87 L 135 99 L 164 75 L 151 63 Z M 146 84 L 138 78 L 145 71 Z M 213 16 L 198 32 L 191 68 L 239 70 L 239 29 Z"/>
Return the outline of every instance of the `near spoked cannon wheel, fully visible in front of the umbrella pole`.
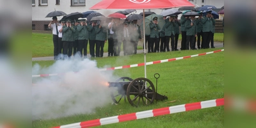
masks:
<path fill-rule="evenodd" d="M 145 85 L 147 85 L 147 88 Z M 152 102 L 154 102 L 156 90 L 154 84 L 149 79 L 140 77 L 134 79 L 129 84 L 126 95 L 129 103 L 132 106 L 147 106 L 148 104 L 152 104 Z"/>

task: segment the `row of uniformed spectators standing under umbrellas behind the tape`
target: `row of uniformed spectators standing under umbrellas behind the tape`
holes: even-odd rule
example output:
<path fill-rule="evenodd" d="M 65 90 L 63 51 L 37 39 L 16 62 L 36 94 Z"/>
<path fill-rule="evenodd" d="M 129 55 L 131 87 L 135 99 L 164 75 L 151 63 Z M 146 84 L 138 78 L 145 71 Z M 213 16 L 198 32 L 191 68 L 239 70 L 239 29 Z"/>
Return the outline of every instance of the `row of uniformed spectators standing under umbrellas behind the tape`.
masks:
<path fill-rule="evenodd" d="M 200 13 L 195 16 L 177 15 L 163 17 L 164 26 L 161 28 L 154 17 L 149 24 L 150 35 L 145 35 L 147 52 L 179 51 L 178 39 L 181 31 L 182 41 L 180 50 L 214 48 L 215 19 L 211 11 L 203 17 Z M 52 17 L 49 23 L 52 29 L 54 43 L 54 60 L 70 58 L 73 55 L 87 58 L 89 42 L 90 56 L 103 57 L 104 44 L 108 40 L 108 56 L 120 56 L 123 44 L 124 56 L 137 53 L 138 42 L 141 40 L 141 28 L 138 20 L 113 18 L 108 21 L 60 20 Z M 201 43 L 202 38 L 202 43 Z M 171 42 L 171 49 L 169 43 Z M 144 47 L 144 46 L 143 46 Z"/>

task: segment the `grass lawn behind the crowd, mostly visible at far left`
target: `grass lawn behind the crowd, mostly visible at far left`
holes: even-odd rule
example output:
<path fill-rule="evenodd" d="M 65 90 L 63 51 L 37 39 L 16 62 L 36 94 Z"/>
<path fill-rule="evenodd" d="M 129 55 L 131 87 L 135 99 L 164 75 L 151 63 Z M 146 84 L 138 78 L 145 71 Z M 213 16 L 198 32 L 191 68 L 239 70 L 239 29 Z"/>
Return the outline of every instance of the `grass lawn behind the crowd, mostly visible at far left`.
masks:
<path fill-rule="evenodd" d="M 179 40 L 181 40 L 181 35 L 179 35 Z M 215 33 L 214 42 L 223 42 L 223 33 Z M 89 53 L 89 45 L 87 48 Z M 138 46 L 138 49 L 142 49 L 142 47 Z M 104 45 L 104 51 L 108 51 L 108 42 Z M 53 56 L 52 35 L 49 33 L 32 33 L 32 57 L 44 56 Z"/>

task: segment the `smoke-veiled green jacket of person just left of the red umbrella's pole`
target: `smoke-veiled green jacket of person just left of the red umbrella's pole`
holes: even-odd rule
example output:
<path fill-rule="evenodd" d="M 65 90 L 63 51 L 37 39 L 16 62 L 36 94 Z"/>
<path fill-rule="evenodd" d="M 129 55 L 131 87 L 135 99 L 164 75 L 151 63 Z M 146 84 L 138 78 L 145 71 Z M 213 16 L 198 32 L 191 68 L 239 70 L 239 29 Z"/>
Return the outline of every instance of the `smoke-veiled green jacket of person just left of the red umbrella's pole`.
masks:
<path fill-rule="evenodd" d="M 138 24 L 136 24 L 136 26 L 134 24 L 129 25 L 129 28 L 131 29 L 130 37 L 132 41 L 138 42 L 139 39 L 141 39 L 141 32 L 140 32 L 140 26 Z"/>

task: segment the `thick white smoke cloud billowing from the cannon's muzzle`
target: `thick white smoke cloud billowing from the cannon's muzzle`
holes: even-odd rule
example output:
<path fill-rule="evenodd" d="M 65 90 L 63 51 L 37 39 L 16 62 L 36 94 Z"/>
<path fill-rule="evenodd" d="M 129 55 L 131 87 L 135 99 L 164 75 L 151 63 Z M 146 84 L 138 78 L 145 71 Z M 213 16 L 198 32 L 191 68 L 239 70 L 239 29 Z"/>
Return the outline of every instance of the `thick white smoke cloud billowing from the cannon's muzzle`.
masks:
<path fill-rule="evenodd" d="M 65 73 L 33 79 L 33 120 L 91 113 L 111 102 L 106 82 L 111 81 L 112 72 L 100 72 L 95 61 L 58 60 L 48 68 L 34 65 L 32 72 Z"/>

